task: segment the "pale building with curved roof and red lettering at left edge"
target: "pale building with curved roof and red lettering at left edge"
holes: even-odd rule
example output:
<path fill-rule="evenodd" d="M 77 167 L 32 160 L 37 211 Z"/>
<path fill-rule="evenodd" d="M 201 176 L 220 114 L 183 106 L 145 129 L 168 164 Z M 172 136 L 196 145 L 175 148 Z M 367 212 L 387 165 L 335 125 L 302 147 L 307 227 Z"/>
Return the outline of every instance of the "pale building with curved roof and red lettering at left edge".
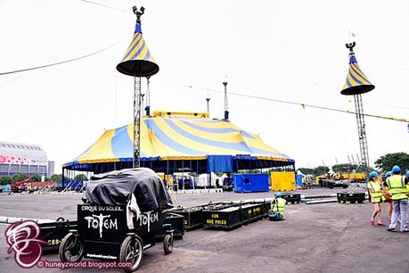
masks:
<path fill-rule="evenodd" d="M 51 177 L 53 172 L 54 162 L 47 161 L 39 145 L 0 141 L 0 176 L 24 173 Z"/>

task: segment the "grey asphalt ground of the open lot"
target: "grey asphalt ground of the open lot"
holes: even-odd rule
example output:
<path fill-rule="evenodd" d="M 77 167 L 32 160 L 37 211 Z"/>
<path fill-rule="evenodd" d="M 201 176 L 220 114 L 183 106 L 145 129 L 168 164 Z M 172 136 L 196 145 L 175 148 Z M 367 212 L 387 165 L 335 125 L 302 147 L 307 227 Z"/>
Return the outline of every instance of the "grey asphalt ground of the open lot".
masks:
<path fill-rule="evenodd" d="M 364 191 L 351 186 L 348 190 Z M 334 194 L 342 189 L 301 190 Z M 176 205 L 271 197 L 258 194 L 176 194 Z M 0 194 L 0 216 L 76 219 L 79 195 Z M 388 223 L 388 205 L 382 204 Z M 372 227 L 372 204 L 294 204 L 284 221 L 259 220 L 231 231 L 196 229 L 175 241 L 164 255 L 162 245 L 146 250 L 138 272 L 409 272 L 409 234 Z M 4 234 L 6 225 L 0 225 Z M 43 261 L 59 261 L 57 254 Z M 118 269 L 21 269 L 0 236 L 0 272 L 121 272 Z"/>

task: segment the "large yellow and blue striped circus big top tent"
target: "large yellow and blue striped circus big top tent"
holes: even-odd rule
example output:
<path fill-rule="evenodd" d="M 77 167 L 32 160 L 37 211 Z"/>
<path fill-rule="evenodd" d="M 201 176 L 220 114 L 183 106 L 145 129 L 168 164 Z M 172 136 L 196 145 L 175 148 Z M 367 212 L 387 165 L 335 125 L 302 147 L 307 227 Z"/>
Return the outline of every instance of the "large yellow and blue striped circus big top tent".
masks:
<path fill-rule="evenodd" d="M 133 134 L 133 124 L 106 130 L 63 169 L 99 173 L 130 168 Z M 231 121 L 153 116 L 141 120 L 141 166 L 166 173 L 181 168 L 203 173 L 293 167 L 294 161 Z"/>

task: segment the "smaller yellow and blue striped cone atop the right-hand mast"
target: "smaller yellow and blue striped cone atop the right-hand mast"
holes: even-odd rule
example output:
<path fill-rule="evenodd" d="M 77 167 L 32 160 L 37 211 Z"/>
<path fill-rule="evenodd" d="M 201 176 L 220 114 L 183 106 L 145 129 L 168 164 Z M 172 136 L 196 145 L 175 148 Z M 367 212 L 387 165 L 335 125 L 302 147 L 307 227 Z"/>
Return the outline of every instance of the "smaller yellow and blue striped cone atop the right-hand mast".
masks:
<path fill-rule="evenodd" d="M 358 62 L 356 62 L 356 57 L 353 50 L 355 45 L 355 42 L 346 45 L 349 49 L 349 70 L 347 80 L 345 81 L 345 85 L 341 91 L 342 95 L 364 94 L 375 88 L 358 66 Z"/>

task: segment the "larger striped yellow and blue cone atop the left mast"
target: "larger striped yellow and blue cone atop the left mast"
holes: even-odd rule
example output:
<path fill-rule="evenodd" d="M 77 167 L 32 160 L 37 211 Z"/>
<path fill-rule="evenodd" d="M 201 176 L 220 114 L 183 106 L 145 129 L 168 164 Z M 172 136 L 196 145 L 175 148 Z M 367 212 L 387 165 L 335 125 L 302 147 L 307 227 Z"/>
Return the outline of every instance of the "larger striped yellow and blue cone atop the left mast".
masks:
<path fill-rule="evenodd" d="M 128 46 L 127 52 L 122 58 L 122 61 L 117 65 L 117 70 L 122 74 L 134 77 L 150 77 L 159 71 L 158 64 L 155 63 L 148 45 L 142 35 L 141 16 L 144 8 L 138 11 L 134 6 L 134 13 L 136 14 L 135 33 L 132 38 L 131 45 Z"/>

